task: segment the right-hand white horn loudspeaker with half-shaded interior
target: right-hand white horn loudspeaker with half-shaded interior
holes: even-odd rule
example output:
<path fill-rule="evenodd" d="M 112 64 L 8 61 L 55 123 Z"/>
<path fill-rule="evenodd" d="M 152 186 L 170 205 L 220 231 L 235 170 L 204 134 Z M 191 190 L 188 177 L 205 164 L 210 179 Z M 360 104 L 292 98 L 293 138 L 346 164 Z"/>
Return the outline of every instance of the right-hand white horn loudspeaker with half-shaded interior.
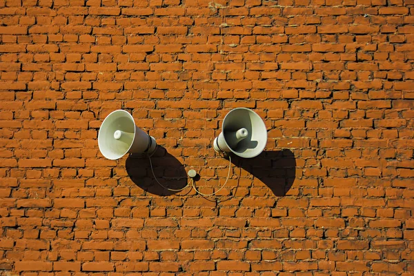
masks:
<path fill-rule="evenodd" d="M 248 108 L 235 108 L 224 117 L 221 133 L 214 139 L 214 149 L 253 158 L 264 150 L 266 142 L 267 130 L 262 118 Z"/>

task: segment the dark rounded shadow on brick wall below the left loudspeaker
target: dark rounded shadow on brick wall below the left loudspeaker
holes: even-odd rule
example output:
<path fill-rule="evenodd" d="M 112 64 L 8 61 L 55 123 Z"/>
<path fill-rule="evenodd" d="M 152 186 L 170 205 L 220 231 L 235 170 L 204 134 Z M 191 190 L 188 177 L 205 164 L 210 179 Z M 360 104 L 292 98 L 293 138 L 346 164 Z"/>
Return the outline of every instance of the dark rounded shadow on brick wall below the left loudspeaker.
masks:
<path fill-rule="evenodd" d="M 166 188 L 178 190 L 187 185 L 187 172 L 181 162 L 170 155 L 166 148 L 157 146 L 151 157 L 155 177 Z M 135 183 L 147 193 L 154 195 L 174 195 L 172 191 L 161 187 L 151 172 L 150 160 L 146 155 L 130 155 L 126 159 L 126 172 Z"/>

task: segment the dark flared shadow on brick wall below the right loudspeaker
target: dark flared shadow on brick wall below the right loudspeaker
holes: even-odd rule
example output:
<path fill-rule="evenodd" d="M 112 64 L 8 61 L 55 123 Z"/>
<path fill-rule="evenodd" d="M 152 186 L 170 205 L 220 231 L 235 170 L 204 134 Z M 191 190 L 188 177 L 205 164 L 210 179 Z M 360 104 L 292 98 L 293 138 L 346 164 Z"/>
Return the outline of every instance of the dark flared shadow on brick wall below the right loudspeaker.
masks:
<path fill-rule="evenodd" d="M 264 150 L 254 158 L 233 156 L 232 163 L 266 184 L 277 197 L 285 196 L 295 181 L 296 160 L 291 150 Z"/>

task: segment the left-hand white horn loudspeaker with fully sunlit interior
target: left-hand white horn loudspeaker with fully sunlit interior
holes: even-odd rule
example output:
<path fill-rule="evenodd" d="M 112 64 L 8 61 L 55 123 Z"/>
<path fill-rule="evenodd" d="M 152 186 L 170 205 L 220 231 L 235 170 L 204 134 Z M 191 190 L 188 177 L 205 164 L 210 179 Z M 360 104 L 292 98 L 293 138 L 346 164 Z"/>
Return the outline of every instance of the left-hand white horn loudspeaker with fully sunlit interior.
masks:
<path fill-rule="evenodd" d="M 157 148 L 154 137 L 135 126 L 134 118 L 126 110 L 115 110 L 103 120 L 98 145 L 102 155 L 111 160 L 127 152 L 151 155 Z"/>

